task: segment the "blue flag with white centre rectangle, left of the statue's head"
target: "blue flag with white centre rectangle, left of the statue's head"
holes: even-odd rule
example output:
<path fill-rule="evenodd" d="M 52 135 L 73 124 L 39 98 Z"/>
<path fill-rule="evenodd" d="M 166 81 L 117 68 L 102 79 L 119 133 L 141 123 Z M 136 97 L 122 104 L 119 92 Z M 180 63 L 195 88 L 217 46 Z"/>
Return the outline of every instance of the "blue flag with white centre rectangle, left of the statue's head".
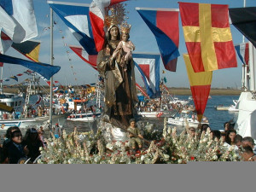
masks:
<path fill-rule="evenodd" d="M 89 8 L 90 4 L 85 3 L 61 3 L 48 1 L 49 6 L 73 32 L 73 36 L 89 55 L 96 55 L 96 45 L 94 42 Z"/>

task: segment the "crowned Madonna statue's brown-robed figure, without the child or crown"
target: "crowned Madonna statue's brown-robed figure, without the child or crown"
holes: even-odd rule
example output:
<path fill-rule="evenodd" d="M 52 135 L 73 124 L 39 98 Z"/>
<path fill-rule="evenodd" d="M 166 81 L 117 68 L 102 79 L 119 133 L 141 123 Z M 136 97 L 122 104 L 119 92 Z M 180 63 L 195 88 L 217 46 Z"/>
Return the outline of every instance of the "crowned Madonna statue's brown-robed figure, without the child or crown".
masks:
<path fill-rule="evenodd" d="M 112 24 L 108 27 L 103 49 L 97 56 L 97 69 L 105 79 L 105 108 L 111 123 L 119 126 L 128 126 L 133 118 L 134 102 L 137 102 L 134 63 L 131 60 L 126 64 L 121 58 L 123 51 L 113 58 L 113 52 L 120 42 L 119 27 Z"/>

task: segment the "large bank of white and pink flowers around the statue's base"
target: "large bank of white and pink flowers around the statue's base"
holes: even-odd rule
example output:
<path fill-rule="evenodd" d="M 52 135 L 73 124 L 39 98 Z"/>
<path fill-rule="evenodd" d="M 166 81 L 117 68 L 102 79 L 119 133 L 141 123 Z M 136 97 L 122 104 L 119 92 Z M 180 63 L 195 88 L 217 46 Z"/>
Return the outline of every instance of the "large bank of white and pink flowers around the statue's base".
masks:
<path fill-rule="evenodd" d="M 148 148 L 132 154 L 130 142 L 112 141 L 107 143 L 98 130 L 68 134 L 63 131 L 61 138 L 52 135 L 46 140 L 47 148 L 41 148 L 41 164 L 154 164 L 187 163 L 188 161 L 236 161 L 241 156 L 233 147 L 226 148 L 224 141 L 212 140 L 210 130 L 195 137 L 185 129 L 177 134 L 176 128 L 167 128 L 155 133 L 150 125 L 142 125 L 143 133 L 150 137 Z M 199 137 L 200 136 L 200 137 Z M 145 143 L 144 145 L 147 145 Z"/>

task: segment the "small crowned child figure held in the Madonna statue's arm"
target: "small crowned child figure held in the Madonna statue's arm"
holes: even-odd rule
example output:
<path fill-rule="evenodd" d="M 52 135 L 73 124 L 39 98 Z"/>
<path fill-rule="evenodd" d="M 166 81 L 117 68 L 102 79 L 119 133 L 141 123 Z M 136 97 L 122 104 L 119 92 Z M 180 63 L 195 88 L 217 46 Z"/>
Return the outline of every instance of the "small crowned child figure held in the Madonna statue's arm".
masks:
<path fill-rule="evenodd" d="M 117 48 L 114 50 L 112 57 L 115 58 L 118 55 L 120 49 L 123 49 L 125 55 L 121 58 L 120 64 L 123 65 L 124 71 L 127 71 L 126 65 L 131 61 L 132 52 L 135 49 L 134 44 L 129 40 L 130 35 L 128 32 L 122 32 L 121 34 L 121 41 L 119 42 Z"/>

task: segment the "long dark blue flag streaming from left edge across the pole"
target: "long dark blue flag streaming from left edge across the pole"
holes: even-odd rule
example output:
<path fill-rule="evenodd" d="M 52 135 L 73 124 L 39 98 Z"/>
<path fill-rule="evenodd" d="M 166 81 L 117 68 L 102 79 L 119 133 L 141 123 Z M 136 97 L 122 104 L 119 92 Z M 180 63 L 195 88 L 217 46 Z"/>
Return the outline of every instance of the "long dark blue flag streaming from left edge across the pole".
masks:
<path fill-rule="evenodd" d="M 42 63 L 42 62 L 26 61 L 26 60 L 15 58 L 9 55 L 2 55 L 2 54 L 0 54 L 0 62 L 17 64 L 23 67 L 27 67 L 33 70 L 34 72 L 44 76 L 44 78 L 46 79 L 50 79 L 55 73 L 58 73 L 61 69 L 61 67 L 59 66 L 51 66 L 49 64 Z"/>

